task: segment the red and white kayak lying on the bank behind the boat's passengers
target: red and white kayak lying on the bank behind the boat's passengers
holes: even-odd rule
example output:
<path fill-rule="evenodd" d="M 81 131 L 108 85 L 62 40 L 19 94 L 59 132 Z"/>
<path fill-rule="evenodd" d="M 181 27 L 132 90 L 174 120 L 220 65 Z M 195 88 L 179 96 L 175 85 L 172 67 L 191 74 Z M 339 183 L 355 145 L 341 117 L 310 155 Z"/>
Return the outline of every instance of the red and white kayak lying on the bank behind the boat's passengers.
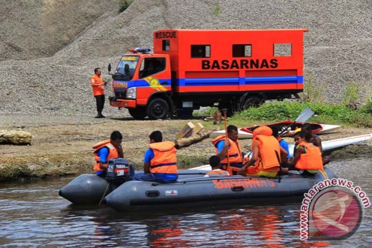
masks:
<path fill-rule="evenodd" d="M 292 123 L 291 120 L 285 120 L 285 121 L 282 121 L 282 122 L 267 124 L 266 126 L 269 126 L 269 127 L 275 126 L 276 128 L 278 128 L 279 131 L 283 131 L 289 125 L 291 125 L 291 123 Z M 327 125 L 327 124 L 318 124 L 318 123 L 309 123 L 309 124 L 311 125 L 312 133 L 325 133 L 325 132 L 330 132 L 330 131 L 334 131 L 338 128 L 341 128 L 341 126 L 339 126 L 339 125 Z M 295 124 L 293 124 L 291 126 L 291 130 L 289 130 L 289 132 L 286 133 L 284 136 L 285 137 L 293 136 L 295 134 L 295 130 L 297 128 L 301 128 L 302 125 L 304 125 L 304 122 L 295 122 Z M 245 127 L 245 128 L 239 128 L 238 129 L 238 139 L 250 139 L 250 138 L 252 138 L 253 130 L 258 128 L 258 127 L 259 126 L 248 126 L 248 127 Z M 225 134 L 225 130 L 212 132 L 211 135 L 209 136 L 209 138 L 215 138 L 219 135 L 224 135 L 224 134 Z"/>

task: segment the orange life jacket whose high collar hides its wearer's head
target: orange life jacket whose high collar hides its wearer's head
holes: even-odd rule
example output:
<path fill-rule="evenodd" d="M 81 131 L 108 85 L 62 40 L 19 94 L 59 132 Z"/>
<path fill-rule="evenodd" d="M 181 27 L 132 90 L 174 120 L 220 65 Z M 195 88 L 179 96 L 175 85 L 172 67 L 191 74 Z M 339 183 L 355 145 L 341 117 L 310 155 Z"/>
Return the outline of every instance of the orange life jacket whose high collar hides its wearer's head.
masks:
<path fill-rule="evenodd" d="M 253 131 L 253 142 L 259 146 L 258 159 L 253 168 L 247 168 L 247 174 L 257 174 L 260 171 L 278 172 L 280 161 L 280 145 L 278 139 L 272 135 L 272 130 L 267 126 L 260 126 Z"/>

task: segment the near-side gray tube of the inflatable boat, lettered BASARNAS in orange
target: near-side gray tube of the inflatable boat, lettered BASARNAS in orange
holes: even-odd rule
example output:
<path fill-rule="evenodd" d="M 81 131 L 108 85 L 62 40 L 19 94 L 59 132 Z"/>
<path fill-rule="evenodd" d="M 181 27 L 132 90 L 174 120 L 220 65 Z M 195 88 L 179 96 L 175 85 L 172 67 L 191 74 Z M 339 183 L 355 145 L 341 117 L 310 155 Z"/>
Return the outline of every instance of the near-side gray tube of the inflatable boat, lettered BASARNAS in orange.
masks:
<path fill-rule="evenodd" d="M 318 182 L 334 177 L 333 171 L 326 168 L 314 177 L 194 177 L 167 184 L 128 181 L 108 194 L 103 202 L 120 212 L 249 203 L 262 198 L 299 196 Z"/>

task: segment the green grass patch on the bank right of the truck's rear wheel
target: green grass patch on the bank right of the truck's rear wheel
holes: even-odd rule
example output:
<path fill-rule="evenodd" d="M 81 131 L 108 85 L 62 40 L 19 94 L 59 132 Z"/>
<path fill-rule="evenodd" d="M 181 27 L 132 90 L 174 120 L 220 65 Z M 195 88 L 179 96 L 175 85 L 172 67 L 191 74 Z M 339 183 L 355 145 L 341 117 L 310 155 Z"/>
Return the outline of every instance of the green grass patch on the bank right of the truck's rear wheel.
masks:
<path fill-rule="evenodd" d="M 309 107 L 315 113 L 308 122 L 372 127 L 372 114 L 367 111 L 365 106 L 357 110 L 352 110 L 350 107 L 343 106 L 342 104 L 299 102 L 264 103 L 260 107 L 250 108 L 236 113 L 231 118 L 231 123 L 234 120 L 265 120 L 270 122 L 286 119 L 295 120 L 305 107 Z"/>

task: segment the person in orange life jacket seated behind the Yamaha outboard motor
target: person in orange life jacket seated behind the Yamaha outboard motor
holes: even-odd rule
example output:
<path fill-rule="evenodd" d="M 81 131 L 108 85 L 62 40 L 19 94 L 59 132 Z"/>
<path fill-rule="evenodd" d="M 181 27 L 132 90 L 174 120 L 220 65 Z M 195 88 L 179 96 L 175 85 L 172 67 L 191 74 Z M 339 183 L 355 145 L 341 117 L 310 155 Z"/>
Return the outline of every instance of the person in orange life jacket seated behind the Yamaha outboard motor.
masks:
<path fill-rule="evenodd" d="M 97 176 L 105 177 L 107 162 L 111 158 L 122 158 L 123 149 L 121 147 L 123 136 L 119 131 L 113 131 L 110 139 L 99 142 L 93 146 L 94 160 L 96 161 L 93 170 Z"/>

